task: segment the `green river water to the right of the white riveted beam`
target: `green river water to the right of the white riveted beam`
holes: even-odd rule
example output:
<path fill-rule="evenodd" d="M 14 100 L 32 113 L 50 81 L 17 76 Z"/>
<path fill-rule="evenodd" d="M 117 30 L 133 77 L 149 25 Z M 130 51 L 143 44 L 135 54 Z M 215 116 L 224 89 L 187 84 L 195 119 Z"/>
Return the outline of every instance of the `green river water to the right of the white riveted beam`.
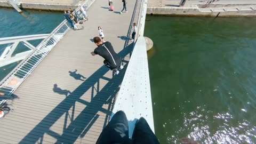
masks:
<path fill-rule="evenodd" d="M 147 17 L 161 143 L 256 142 L 255 23 L 256 18 Z"/>

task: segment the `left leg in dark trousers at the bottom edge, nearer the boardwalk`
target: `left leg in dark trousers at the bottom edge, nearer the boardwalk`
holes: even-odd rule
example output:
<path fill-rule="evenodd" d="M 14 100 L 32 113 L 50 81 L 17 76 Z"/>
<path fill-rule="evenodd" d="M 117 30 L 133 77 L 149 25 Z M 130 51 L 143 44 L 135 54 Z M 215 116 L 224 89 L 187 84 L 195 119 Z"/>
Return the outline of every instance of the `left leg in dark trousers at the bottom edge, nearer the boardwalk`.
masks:
<path fill-rule="evenodd" d="M 117 111 L 96 143 L 130 143 L 128 122 L 123 111 Z"/>

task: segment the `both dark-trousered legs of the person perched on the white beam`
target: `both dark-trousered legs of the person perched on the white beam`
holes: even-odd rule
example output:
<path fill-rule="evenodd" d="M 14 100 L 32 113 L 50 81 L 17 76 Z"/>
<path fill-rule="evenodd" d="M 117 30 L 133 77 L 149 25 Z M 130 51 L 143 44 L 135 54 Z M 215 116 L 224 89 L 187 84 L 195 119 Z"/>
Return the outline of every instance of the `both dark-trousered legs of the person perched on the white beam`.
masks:
<path fill-rule="evenodd" d="M 123 111 L 117 111 L 100 134 L 96 143 L 159 143 L 145 118 L 135 124 L 132 139 L 129 138 L 128 122 Z"/>

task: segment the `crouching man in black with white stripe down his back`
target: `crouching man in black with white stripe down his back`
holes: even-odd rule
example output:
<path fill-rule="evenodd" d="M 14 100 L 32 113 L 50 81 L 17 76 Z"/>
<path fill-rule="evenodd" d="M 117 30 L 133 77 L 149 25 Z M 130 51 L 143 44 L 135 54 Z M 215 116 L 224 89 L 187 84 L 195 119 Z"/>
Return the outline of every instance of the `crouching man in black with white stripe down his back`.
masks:
<path fill-rule="evenodd" d="M 119 74 L 119 70 L 123 69 L 121 57 L 114 51 L 110 42 L 102 42 L 100 37 L 94 37 L 93 42 L 98 46 L 91 54 L 94 56 L 99 54 L 105 60 L 104 65 L 110 70 L 113 70 L 116 75 Z M 118 70 L 119 69 L 119 70 Z"/>

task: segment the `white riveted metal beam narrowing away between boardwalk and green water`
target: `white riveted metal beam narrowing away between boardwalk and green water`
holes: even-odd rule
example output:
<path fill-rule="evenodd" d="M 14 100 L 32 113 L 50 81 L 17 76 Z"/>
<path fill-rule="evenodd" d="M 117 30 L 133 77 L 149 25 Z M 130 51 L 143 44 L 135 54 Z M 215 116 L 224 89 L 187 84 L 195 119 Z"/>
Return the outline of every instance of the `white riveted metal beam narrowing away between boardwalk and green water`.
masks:
<path fill-rule="evenodd" d="M 129 124 L 130 138 L 132 137 L 135 123 L 140 117 L 144 117 L 151 130 L 155 132 L 147 49 L 145 38 L 143 37 L 147 0 L 142 1 L 140 10 L 137 31 L 138 39 L 136 36 L 135 39 L 137 39 L 137 42 L 134 45 L 132 56 L 111 115 L 113 116 L 119 110 L 125 112 Z"/>

